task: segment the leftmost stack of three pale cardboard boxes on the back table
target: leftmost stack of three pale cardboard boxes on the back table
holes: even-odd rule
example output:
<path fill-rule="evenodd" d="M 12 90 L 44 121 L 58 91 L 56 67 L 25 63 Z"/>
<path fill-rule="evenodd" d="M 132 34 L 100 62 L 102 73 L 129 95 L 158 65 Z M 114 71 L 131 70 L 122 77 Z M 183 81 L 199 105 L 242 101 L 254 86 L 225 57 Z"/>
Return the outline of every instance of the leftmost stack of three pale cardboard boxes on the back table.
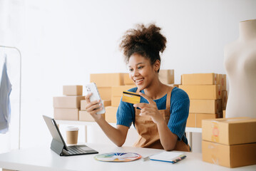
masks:
<path fill-rule="evenodd" d="M 63 95 L 53 97 L 54 118 L 56 120 L 79 120 L 79 110 L 83 96 L 83 86 L 63 86 Z"/>

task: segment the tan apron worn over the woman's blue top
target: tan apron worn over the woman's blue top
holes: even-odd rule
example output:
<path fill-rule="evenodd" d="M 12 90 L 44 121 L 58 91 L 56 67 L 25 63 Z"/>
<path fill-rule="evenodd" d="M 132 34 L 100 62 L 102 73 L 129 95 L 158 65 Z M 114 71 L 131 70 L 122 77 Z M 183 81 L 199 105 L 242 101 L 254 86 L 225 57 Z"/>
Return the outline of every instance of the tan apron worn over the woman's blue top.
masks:
<path fill-rule="evenodd" d="M 168 124 L 170 119 L 170 95 L 172 90 L 172 87 L 168 90 L 166 97 L 166 109 L 159 110 L 160 114 L 163 115 L 166 124 Z M 139 90 L 137 90 L 136 93 L 139 93 Z M 163 149 L 163 146 L 160 143 L 157 125 L 153 122 L 150 116 L 140 116 L 139 114 L 140 110 L 135 108 L 135 128 L 139 134 L 139 138 L 133 146 Z M 190 147 L 189 145 L 186 145 L 183 140 L 180 140 L 176 142 L 176 146 L 173 150 L 190 152 Z"/>

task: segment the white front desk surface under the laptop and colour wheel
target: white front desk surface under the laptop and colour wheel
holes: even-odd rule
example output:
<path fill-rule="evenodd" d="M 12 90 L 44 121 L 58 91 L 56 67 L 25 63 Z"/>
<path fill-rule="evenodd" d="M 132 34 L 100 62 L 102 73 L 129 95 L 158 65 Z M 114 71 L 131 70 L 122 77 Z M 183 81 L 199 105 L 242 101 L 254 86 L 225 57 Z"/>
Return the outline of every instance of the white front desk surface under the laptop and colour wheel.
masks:
<path fill-rule="evenodd" d="M 86 144 L 99 153 L 106 152 L 137 152 L 146 157 L 163 150 L 155 150 L 138 147 L 116 147 L 114 145 Z M 0 154 L 0 168 L 9 170 L 256 170 L 256 165 L 227 168 L 202 161 L 202 154 L 185 152 L 187 157 L 178 163 L 143 161 L 133 162 L 100 162 L 93 159 L 94 155 L 78 155 L 60 157 L 50 147 L 37 147 Z"/>

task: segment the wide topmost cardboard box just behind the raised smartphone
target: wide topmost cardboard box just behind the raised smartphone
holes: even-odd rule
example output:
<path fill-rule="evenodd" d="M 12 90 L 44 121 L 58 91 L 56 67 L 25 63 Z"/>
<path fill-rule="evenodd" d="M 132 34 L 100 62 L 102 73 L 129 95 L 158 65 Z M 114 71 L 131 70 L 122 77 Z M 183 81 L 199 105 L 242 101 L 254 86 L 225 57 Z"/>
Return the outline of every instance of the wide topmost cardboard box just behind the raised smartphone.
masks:
<path fill-rule="evenodd" d="M 97 87 L 122 86 L 124 73 L 91 73 L 91 83 L 96 83 Z"/>

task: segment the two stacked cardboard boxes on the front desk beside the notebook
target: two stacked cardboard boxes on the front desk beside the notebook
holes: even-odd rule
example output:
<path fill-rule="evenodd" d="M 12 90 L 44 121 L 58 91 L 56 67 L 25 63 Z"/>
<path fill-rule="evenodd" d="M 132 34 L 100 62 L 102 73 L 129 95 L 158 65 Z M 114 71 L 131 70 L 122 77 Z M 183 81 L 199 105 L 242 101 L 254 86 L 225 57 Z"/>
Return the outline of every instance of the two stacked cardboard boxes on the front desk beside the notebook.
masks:
<path fill-rule="evenodd" d="M 203 161 L 225 167 L 256 164 L 256 118 L 203 120 Z"/>

